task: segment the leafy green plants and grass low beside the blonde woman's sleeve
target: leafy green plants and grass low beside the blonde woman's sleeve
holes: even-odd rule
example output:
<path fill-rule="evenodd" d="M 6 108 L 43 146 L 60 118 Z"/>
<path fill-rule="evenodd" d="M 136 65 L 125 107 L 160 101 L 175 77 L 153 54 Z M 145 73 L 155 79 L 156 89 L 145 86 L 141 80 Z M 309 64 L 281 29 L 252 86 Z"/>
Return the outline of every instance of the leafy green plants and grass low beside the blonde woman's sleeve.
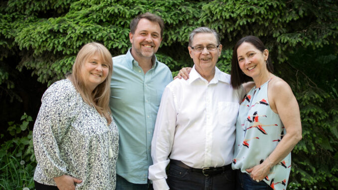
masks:
<path fill-rule="evenodd" d="M 0 189 L 34 187 L 33 175 L 36 161 L 32 131 L 28 128 L 29 122 L 33 120 L 24 113 L 21 121 L 21 124 L 8 122 L 7 131 L 13 139 L 5 141 L 0 146 Z M 2 134 L 1 138 L 3 138 Z"/>

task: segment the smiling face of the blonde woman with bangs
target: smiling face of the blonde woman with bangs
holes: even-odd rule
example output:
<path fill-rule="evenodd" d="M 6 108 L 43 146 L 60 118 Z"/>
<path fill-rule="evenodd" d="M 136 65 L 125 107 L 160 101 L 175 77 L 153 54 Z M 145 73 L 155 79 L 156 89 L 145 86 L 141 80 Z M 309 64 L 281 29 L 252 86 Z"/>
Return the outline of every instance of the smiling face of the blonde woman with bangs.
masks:
<path fill-rule="evenodd" d="M 108 72 L 109 65 L 102 62 L 98 53 L 89 56 L 81 68 L 83 82 L 88 91 L 92 92 L 97 85 L 101 84 L 107 78 Z"/>

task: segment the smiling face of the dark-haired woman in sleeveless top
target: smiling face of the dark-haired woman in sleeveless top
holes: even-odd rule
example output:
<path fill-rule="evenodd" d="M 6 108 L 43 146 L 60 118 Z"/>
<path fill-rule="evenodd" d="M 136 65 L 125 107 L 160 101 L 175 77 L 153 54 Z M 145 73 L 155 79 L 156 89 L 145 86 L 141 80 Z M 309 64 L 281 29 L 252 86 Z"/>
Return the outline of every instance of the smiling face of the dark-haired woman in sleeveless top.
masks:
<path fill-rule="evenodd" d="M 269 51 L 263 52 L 248 42 L 243 42 L 237 48 L 237 60 L 242 72 L 255 79 L 266 74 L 268 71 L 265 60 L 269 56 Z"/>

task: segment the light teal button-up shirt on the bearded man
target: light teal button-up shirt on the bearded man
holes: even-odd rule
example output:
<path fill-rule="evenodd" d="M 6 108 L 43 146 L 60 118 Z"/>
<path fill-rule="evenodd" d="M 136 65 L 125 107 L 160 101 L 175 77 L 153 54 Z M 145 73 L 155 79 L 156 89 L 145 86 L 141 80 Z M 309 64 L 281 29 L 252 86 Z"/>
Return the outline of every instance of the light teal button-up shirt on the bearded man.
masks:
<path fill-rule="evenodd" d="M 144 74 L 130 51 L 113 57 L 109 104 L 120 135 L 116 173 L 131 183 L 146 184 L 157 112 L 172 75 L 156 56 Z"/>

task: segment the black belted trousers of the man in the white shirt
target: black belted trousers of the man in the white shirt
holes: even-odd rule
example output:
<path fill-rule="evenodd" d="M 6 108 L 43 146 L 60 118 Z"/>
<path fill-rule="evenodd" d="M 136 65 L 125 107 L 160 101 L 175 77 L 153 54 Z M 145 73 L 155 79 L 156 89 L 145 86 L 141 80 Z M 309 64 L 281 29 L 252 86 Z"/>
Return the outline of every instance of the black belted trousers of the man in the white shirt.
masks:
<path fill-rule="evenodd" d="M 235 173 L 230 169 L 204 176 L 170 162 L 167 184 L 170 190 L 235 190 Z"/>

